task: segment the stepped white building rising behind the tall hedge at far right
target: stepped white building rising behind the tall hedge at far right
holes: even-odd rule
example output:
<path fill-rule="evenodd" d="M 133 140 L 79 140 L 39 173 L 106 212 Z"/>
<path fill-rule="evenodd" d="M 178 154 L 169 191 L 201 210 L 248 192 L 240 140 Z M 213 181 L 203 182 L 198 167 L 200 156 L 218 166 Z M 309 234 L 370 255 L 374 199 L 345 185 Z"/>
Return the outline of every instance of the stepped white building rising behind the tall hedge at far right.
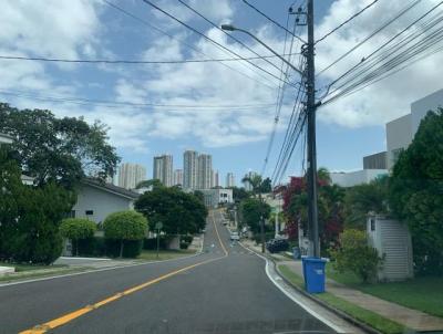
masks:
<path fill-rule="evenodd" d="M 392 169 L 399 154 L 412 143 L 421 121 L 427 112 L 443 106 L 443 90 L 436 91 L 411 104 L 411 113 L 387 123 L 387 161 Z"/>

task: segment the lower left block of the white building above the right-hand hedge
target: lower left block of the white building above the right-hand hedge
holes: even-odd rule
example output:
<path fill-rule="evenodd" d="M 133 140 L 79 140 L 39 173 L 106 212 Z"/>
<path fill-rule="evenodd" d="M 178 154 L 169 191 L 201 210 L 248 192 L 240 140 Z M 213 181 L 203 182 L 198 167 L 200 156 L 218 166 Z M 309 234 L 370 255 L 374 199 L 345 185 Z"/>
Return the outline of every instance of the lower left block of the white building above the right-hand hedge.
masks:
<path fill-rule="evenodd" d="M 391 169 L 396 161 L 400 150 L 405 149 L 412 142 L 412 115 L 408 114 L 387 123 L 387 163 Z"/>

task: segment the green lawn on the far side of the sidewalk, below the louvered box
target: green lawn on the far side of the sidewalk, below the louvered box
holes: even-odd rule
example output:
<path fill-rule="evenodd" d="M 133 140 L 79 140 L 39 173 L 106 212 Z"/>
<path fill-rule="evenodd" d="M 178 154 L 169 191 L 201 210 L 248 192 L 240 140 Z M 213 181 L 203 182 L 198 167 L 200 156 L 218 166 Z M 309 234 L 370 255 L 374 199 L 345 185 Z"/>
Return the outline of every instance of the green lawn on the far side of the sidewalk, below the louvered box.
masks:
<path fill-rule="evenodd" d="M 362 284 L 352 273 L 337 273 L 327 267 L 327 276 L 396 304 L 443 317 L 443 278 L 415 278 L 404 282 Z"/>

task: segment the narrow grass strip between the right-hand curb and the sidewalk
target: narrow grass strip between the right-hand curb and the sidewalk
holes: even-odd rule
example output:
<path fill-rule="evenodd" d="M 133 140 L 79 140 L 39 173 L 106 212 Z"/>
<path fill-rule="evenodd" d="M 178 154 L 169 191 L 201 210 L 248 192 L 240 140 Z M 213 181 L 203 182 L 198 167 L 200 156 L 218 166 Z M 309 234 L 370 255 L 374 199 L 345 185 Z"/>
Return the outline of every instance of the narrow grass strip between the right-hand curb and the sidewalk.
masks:
<path fill-rule="evenodd" d="M 293 285 L 299 288 L 305 288 L 305 282 L 301 276 L 293 273 L 287 265 L 278 265 L 278 270 L 280 273 Z M 401 324 L 398 324 L 384 316 L 381 316 L 372 311 L 362 309 L 356 304 L 352 304 L 346 300 L 334 296 L 329 292 L 316 294 L 316 296 L 327 304 L 338 309 L 350 316 L 377 328 L 382 333 L 395 334 L 403 333 L 405 327 Z"/>

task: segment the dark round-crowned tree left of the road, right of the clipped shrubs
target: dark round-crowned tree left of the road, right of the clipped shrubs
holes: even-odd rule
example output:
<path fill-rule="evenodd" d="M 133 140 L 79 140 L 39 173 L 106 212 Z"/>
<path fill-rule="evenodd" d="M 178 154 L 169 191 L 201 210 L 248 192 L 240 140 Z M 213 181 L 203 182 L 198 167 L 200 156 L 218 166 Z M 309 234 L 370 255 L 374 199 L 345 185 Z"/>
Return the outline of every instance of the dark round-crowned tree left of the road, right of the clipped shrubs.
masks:
<path fill-rule="evenodd" d="M 148 218 L 152 229 L 162 222 L 167 234 L 194 234 L 206 225 L 207 209 L 202 200 L 174 187 L 154 188 L 143 194 L 135 209 Z"/>

